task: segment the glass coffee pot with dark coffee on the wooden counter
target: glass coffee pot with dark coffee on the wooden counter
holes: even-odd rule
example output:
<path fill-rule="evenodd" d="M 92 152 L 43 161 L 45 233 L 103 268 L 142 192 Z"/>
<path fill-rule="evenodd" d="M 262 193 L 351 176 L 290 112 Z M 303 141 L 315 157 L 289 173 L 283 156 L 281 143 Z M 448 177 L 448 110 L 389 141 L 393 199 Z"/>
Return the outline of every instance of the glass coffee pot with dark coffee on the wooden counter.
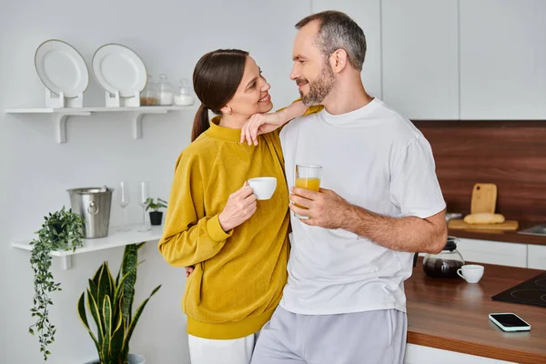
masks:
<path fill-rule="evenodd" d="M 458 238 L 448 237 L 446 246 L 438 254 L 427 254 L 423 270 L 433 278 L 457 278 L 457 270 L 464 266 L 464 259 L 457 250 Z"/>

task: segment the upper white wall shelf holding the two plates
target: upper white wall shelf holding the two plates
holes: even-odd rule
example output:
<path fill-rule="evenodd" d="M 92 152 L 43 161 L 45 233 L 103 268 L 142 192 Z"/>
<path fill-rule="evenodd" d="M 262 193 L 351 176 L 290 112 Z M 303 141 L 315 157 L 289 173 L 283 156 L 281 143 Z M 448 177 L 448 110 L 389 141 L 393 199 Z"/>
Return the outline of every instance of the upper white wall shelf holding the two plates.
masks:
<path fill-rule="evenodd" d="M 52 115 L 56 124 L 56 142 L 66 143 L 66 120 L 70 116 L 90 116 L 96 113 L 131 113 L 133 138 L 142 138 L 142 118 L 149 114 L 167 114 L 173 111 L 192 110 L 194 106 L 137 106 L 137 107 L 29 107 L 10 108 L 6 114 L 44 114 Z"/>

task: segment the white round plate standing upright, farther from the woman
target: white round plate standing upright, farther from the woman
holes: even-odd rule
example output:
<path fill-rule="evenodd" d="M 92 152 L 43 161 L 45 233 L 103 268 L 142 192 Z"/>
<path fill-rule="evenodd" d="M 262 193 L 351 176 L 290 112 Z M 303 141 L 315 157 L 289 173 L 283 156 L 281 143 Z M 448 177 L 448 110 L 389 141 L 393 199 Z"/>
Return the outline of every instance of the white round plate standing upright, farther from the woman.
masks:
<path fill-rule="evenodd" d="M 35 67 L 42 83 L 51 92 L 76 97 L 89 85 L 84 57 L 72 45 L 50 39 L 36 49 Z"/>

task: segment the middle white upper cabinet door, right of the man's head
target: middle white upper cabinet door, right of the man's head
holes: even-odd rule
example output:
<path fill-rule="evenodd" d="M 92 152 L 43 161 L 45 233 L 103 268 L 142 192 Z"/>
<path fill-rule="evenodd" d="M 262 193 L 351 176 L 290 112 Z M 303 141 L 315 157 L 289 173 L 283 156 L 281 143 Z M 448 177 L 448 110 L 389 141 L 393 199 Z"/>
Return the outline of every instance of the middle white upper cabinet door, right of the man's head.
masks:
<path fill-rule="evenodd" d="M 382 2 L 383 99 L 411 119 L 459 118 L 458 2 Z"/>

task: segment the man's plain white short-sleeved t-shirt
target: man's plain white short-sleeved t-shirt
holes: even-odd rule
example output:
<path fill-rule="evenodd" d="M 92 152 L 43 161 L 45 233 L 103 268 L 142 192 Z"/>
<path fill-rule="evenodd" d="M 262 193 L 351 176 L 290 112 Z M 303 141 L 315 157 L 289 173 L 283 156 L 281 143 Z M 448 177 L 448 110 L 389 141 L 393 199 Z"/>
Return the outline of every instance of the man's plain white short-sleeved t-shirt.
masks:
<path fill-rule="evenodd" d="M 446 205 L 429 142 L 410 120 L 375 98 L 343 115 L 298 117 L 280 133 L 288 186 L 296 164 L 322 166 L 320 187 L 389 217 L 430 217 Z M 406 310 L 413 253 L 383 248 L 343 229 L 310 227 L 291 214 L 290 312 L 329 315 Z"/>

